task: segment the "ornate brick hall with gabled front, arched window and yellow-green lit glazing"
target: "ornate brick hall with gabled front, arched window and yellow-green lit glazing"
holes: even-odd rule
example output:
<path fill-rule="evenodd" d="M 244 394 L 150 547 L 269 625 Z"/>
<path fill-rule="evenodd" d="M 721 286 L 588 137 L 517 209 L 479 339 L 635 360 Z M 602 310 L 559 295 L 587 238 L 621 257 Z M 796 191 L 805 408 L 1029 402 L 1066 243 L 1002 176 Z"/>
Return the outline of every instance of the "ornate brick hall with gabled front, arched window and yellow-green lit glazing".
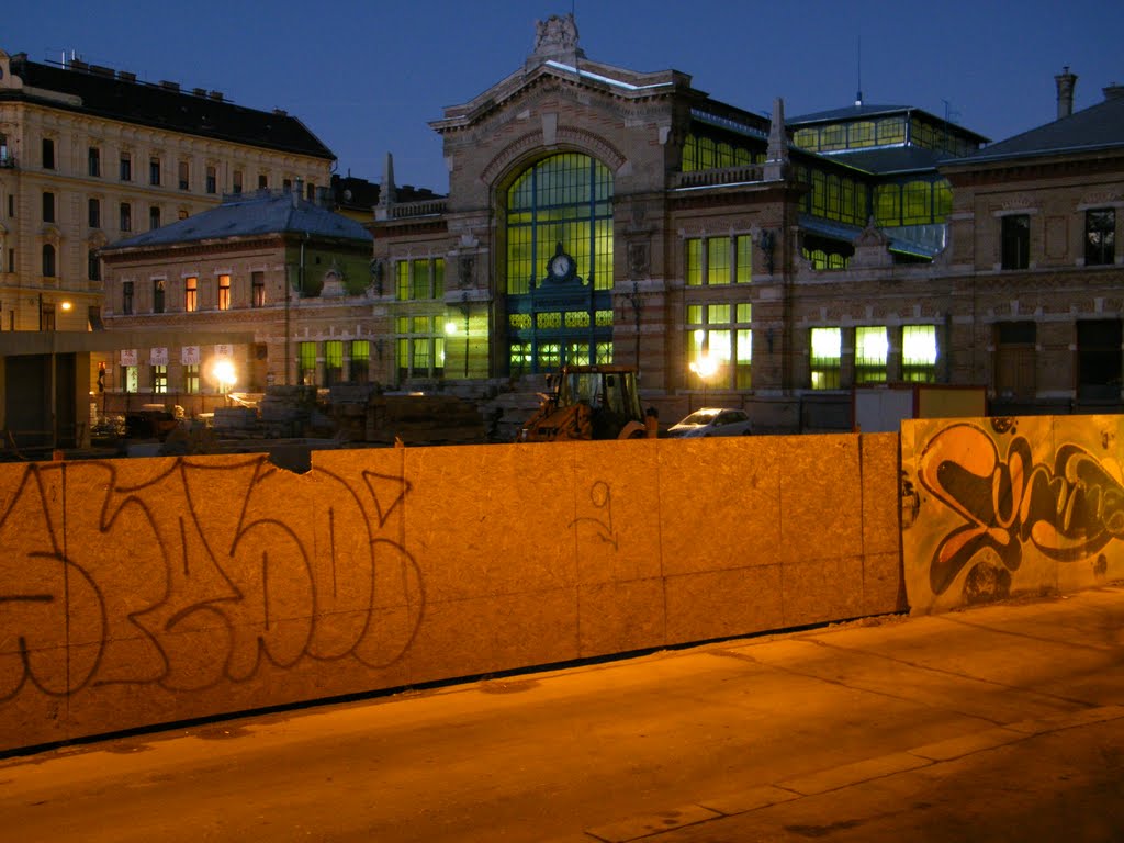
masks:
<path fill-rule="evenodd" d="M 432 124 L 447 198 L 396 202 L 383 176 L 380 374 L 633 364 L 665 423 L 705 401 L 763 432 L 847 429 L 852 388 L 883 383 L 1118 411 L 1124 100 L 1073 115 L 1076 76 L 1057 79 L 1057 121 L 987 146 L 861 98 L 755 115 L 588 58 L 572 16 L 541 21 L 523 67 Z"/>

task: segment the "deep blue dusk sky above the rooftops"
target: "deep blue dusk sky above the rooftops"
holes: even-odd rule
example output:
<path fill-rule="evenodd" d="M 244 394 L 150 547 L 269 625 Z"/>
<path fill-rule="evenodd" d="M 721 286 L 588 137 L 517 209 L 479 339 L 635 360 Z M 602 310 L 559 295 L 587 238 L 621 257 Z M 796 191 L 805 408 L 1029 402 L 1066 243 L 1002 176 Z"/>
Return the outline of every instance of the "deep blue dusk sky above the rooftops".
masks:
<path fill-rule="evenodd" d="M 741 0 L 194 0 L 8 3 L 0 49 L 73 52 L 151 82 L 283 108 L 337 156 L 339 173 L 445 192 L 429 128 L 522 67 L 535 21 L 573 10 L 587 57 L 674 69 L 711 97 L 789 117 L 863 99 L 912 105 L 1000 140 L 1055 117 L 1054 75 L 1075 108 L 1124 82 L 1124 2 L 743 2 Z M 861 55 L 861 62 L 860 62 Z"/>

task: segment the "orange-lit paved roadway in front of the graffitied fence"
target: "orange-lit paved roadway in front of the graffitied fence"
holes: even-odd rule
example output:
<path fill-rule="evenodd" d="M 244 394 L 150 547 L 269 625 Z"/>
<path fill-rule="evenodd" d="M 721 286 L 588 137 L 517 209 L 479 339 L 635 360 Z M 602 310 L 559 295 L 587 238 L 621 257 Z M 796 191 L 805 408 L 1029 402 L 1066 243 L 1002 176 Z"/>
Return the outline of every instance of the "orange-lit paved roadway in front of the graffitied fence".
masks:
<path fill-rule="evenodd" d="M 1124 587 L 0 761 L 0 840 L 1124 840 Z"/>

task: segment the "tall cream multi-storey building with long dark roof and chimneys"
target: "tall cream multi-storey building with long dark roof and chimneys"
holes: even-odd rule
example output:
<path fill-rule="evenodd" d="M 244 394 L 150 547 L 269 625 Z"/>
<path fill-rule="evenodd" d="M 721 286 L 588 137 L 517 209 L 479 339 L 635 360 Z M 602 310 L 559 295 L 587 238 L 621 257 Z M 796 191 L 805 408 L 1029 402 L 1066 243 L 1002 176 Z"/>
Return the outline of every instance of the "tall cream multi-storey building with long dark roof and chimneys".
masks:
<path fill-rule="evenodd" d="M 0 51 L 0 329 L 100 327 L 102 246 L 224 193 L 300 183 L 315 196 L 334 158 L 280 110 Z"/>

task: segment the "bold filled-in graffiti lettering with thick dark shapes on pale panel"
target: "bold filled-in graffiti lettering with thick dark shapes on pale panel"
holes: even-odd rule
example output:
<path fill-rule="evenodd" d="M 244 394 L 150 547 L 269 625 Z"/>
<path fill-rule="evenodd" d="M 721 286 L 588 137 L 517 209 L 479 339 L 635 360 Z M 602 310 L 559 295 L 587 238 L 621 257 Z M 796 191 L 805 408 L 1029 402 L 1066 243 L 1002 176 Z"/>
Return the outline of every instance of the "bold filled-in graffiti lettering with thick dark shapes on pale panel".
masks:
<path fill-rule="evenodd" d="M 963 519 L 933 554 L 930 584 L 937 595 L 984 549 L 1010 572 L 1027 544 L 1049 559 L 1075 562 L 1124 536 L 1124 487 L 1079 445 L 1059 446 L 1052 466 L 1035 464 L 1024 436 L 1014 435 L 1000 457 L 986 430 L 955 424 L 925 445 L 917 478 Z"/>

